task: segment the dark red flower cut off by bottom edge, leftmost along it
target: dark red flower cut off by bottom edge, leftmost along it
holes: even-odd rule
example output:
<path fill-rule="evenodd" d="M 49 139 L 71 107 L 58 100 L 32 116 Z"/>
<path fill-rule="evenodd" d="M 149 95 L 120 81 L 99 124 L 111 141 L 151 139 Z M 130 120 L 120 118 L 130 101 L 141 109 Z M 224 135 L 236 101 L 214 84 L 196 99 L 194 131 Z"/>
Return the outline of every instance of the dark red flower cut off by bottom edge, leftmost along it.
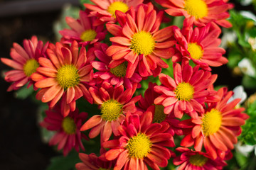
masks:
<path fill-rule="evenodd" d="M 83 154 L 79 153 L 79 158 L 82 162 L 75 164 L 78 170 L 110 170 L 113 168 L 112 161 L 102 161 L 96 154 Z"/>

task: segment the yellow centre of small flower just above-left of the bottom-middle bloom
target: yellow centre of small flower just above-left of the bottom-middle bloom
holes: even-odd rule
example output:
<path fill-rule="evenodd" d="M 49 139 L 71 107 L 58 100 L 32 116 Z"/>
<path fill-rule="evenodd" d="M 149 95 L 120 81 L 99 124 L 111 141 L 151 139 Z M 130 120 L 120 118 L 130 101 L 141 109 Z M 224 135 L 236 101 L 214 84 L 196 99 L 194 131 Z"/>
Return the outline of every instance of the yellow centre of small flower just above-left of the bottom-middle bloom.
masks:
<path fill-rule="evenodd" d="M 122 104 L 118 101 L 110 99 L 105 101 L 100 107 L 101 117 L 105 121 L 117 120 L 120 114 L 122 114 Z"/>

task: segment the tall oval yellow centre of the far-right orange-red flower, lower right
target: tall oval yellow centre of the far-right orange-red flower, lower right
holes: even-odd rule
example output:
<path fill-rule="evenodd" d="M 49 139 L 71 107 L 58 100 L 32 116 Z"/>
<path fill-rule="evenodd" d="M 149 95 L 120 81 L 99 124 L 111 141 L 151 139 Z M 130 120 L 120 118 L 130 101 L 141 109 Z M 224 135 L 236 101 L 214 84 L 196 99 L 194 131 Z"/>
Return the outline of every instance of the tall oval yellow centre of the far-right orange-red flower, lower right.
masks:
<path fill-rule="evenodd" d="M 210 112 L 207 112 L 203 116 L 203 135 L 213 135 L 213 133 L 217 132 L 221 126 L 221 113 L 215 108 L 211 109 Z"/>

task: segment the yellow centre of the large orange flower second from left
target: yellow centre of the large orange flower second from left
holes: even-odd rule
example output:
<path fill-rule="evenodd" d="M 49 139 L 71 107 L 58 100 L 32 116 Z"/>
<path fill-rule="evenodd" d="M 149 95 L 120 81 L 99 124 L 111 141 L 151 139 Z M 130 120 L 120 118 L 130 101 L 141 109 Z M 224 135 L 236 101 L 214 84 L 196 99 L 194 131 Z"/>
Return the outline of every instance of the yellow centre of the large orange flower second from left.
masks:
<path fill-rule="evenodd" d="M 78 69 L 73 64 L 66 64 L 57 73 L 57 81 L 64 89 L 76 86 L 80 82 Z"/>

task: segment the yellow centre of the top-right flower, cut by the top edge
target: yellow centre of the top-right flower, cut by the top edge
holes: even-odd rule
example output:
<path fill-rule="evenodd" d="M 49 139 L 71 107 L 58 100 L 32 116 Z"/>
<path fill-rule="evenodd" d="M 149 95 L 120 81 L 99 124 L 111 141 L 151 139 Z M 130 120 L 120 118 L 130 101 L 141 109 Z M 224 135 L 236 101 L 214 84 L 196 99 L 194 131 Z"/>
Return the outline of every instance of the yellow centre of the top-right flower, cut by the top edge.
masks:
<path fill-rule="evenodd" d="M 184 9 L 196 19 L 203 18 L 208 14 L 208 7 L 203 0 L 185 0 Z"/>

